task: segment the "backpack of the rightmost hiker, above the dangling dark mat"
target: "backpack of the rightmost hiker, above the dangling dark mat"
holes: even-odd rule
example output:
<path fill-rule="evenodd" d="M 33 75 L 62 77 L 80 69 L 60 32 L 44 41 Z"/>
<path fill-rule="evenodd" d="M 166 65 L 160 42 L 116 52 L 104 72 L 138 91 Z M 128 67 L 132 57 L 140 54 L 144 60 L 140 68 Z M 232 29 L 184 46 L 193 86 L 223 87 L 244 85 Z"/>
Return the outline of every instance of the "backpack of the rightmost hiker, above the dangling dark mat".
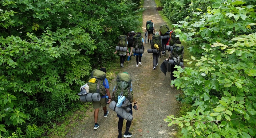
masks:
<path fill-rule="evenodd" d="M 176 65 L 179 65 L 180 61 L 183 61 L 184 47 L 181 44 L 174 44 L 171 49 L 171 59 L 173 59 Z"/>

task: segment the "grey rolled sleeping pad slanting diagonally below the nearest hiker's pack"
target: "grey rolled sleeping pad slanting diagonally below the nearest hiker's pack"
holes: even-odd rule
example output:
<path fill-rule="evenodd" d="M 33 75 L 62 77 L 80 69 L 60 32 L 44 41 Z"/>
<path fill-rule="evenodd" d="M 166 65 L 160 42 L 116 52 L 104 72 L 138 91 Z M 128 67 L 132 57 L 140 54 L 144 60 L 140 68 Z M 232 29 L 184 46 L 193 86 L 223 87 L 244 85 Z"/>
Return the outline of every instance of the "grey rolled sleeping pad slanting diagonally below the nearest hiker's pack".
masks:
<path fill-rule="evenodd" d="M 111 110 L 115 111 L 118 115 L 120 115 L 121 117 L 123 117 L 127 121 L 132 121 L 133 120 L 132 114 L 131 113 L 127 113 L 124 108 L 117 107 L 115 101 L 112 101 L 109 104 L 108 108 L 110 108 Z"/>

